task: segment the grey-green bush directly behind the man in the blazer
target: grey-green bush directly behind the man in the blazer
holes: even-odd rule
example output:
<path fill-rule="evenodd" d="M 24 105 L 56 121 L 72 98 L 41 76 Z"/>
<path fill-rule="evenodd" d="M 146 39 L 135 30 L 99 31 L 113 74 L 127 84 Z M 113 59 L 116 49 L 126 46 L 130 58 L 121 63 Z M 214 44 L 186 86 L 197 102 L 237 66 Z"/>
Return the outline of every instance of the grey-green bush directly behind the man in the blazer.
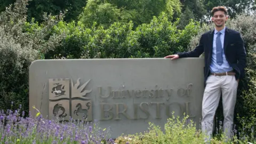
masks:
<path fill-rule="evenodd" d="M 239 131 L 245 132 L 243 136 L 239 135 L 239 137 L 244 137 L 247 133 L 251 133 L 251 127 L 256 127 L 256 18 L 254 15 L 237 15 L 235 19 L 228 20 L 226 26 L 241 33 L 247 53 L 246 75 L 239 81 L 235 107 L 235 114 L 237 116 L 234 117 L 234 123 L 238 126 Z M 203 25 L 198 31 L 198 34 L 191 38 L 189 50 L 194 49 L 203 33 L 213 29 L 213 24 Z M 218 121 L 223 120 L 222 114 L 222 102 L 220 101 L 216 114 Z M 248 137 L 251 136 L 252 135 L 248 135 Z"/>

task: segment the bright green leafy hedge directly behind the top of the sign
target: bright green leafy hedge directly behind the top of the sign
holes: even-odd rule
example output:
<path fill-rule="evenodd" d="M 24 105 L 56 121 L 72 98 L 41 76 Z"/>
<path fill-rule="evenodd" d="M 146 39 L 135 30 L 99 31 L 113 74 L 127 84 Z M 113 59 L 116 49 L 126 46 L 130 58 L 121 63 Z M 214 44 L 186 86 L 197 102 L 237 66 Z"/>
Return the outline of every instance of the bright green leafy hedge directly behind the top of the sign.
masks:
<path fill-rule="evenodd" d="M 190 38 L 194 36 L 199 23 L 190 21 L 185 29 L 168 20 L 167 14 L 154 17 L 148 24 L 133 30 L 133 22 L 114 22 L 107 29 L 86 28 L 83 22 L 59 22 L 53 34 L 66 34 L 61 45 L 45 54 L 45 58 L 159 58 L 166 54 L 187 50 Z"/>

